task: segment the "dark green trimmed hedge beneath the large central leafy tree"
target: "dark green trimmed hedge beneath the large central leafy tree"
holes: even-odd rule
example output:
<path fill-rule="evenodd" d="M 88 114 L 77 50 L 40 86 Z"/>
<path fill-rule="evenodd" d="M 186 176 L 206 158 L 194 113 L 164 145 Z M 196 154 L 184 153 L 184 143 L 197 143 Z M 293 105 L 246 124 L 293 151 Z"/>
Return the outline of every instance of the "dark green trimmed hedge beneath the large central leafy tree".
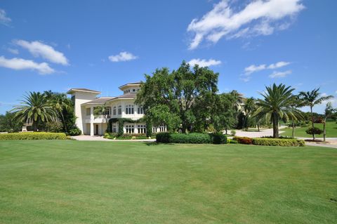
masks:
<path fill-rule="evenodd" d="M 226 144 L 222 133 L 157 133 L 157 143 Z"/>

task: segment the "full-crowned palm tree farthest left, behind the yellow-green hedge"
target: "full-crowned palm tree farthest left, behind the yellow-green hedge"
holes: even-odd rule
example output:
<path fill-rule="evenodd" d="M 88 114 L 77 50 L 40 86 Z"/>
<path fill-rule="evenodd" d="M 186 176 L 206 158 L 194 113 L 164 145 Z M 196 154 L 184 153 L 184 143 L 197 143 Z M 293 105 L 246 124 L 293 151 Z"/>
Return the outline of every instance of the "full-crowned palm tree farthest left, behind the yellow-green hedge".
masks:
<path fill-rule="evenodd" d="M 12 111 L 15 112 L 15 119 L 21 122 L 32 120 L 34 131 L 37 131 L 40 121 L 53 121 L 57 117 L 44 93 L 29 92 L 24 95 L 24 99 L 21 100 L 21 105 L 16 105 Z"/>

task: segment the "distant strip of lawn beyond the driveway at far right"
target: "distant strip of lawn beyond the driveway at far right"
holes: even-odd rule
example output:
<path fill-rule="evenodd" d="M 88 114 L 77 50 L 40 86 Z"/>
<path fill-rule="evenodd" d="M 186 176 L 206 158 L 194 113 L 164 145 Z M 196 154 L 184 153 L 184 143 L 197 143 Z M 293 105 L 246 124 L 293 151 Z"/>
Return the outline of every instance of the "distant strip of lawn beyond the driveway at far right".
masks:
<path fill-rule="evenodd" d="M 311 125 L 311 124 L 310 124 Z M 315 124 L 315 127 L 322 129 L 323 130 L 323 124 Z M 309 128 L 295 128 L 295 136 L 296 137 L 311 137 L 311 135 L 308 135 L 305 130 Z M 286 128 L 286 129 L 281 129 L 281 131 L 284 131 L 281 133 L 282 136 L 291 136 L 292 129 L 291 128 Z M 317 138 L 323 138 L 322 135 L 316 135 Z M 337 124 L 336 121 L 328 121 L 326 122 L 326 138 L 337 138 Z"/>

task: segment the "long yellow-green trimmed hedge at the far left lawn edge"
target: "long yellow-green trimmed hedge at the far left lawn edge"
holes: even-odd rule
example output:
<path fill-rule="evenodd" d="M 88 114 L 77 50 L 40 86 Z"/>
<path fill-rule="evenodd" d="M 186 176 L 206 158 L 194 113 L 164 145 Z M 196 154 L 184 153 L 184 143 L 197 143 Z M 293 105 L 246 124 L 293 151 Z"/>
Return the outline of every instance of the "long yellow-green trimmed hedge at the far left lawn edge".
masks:
<path fill-rule="evenodd" d="M 66 140 L 65 133 L 22 132 L 0 134 L 0 140 Z"/>

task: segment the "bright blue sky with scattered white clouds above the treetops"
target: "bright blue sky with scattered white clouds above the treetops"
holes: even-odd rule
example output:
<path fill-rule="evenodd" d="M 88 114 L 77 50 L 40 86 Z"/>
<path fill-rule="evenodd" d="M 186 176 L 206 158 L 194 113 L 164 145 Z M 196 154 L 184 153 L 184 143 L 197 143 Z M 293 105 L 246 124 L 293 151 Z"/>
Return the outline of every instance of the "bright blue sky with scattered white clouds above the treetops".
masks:
<path fill-rule="evenodd" d="M 328 0 L 0 1 L 0 114 L 27 91 L 120 95 L 118 86 L 182 60 L 219 72 L 220 92 L 258 97 L 276 82 L 337 97 L 336 8 Z"/>

